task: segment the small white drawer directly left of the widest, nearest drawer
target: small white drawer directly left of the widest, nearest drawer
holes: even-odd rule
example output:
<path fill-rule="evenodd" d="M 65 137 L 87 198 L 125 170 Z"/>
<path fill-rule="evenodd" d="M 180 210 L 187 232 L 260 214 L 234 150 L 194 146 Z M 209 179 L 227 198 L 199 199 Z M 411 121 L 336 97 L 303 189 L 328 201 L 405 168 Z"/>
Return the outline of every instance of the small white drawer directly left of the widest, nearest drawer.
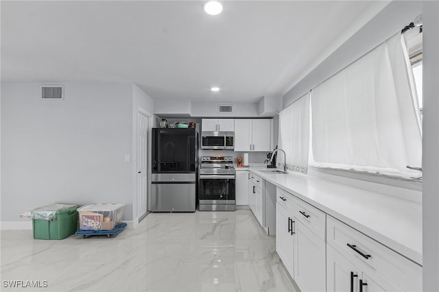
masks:
<path fill-rule="evenodd" d="M 324 234 L 326 232 L 326 213 L 297 197 L 295 197 L 295 199 L 296 205 L 293 212 L 294 217 L 324 241 Z"/>

